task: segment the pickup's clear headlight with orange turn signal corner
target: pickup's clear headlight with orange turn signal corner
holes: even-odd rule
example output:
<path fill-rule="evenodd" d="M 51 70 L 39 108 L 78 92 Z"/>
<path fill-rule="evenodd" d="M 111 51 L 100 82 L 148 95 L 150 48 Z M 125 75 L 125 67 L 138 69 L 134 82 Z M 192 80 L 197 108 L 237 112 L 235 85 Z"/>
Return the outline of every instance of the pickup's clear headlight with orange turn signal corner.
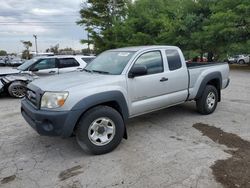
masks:
<path fill-rule="evenodd" d="M 68 92 L 45 92 L 41 100 L 41 108 L 59 108 L 64 105 Z"/>

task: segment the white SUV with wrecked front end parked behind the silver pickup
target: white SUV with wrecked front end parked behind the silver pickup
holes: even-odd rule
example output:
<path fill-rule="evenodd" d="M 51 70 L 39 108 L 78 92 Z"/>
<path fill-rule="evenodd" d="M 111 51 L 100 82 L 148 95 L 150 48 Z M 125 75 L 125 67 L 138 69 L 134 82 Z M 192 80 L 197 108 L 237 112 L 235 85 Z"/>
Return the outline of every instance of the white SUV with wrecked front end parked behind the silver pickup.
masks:
<path fill-rule="evenodd" d="M 26 93 L 26 85 L 44 76 L 52 76 L 82 70 L 86 65 L 86 60 L 92 60 L 93 56 L 49 56 L 38 57 L 26 61 L 17 69 L 0 73 L 4 90 L 10 96 L 22 98 Z M 85 60 L 85 61 L 84 61 Z"/>

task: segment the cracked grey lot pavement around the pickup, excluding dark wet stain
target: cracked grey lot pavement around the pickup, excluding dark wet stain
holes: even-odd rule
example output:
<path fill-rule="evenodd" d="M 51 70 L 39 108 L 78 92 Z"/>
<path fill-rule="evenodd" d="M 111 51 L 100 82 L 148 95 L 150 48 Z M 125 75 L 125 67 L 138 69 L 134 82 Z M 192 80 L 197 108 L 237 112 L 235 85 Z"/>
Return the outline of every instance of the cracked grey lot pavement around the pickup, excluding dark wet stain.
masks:
<path fill-rule="evenodd" d="M 250 73 L 230 77 L 212 115 L 198 114 L 189 102 L 131 119 L 128 140 L 100 156 L 85 154 L 73 137 L 39 136 L 21 117 L 20 101 L 2 97 L 0 187 L 222 187 L 210 167 L 232 155 L 193 125 L 250 141 Z"/>

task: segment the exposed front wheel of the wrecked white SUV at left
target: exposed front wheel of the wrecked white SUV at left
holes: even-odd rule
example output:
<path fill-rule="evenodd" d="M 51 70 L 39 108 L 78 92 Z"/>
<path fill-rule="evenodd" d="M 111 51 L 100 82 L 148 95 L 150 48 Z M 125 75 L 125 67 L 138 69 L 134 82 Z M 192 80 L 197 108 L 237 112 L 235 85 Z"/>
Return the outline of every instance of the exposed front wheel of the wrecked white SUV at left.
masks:
<path fill-rule="evenodd" d="M 26 94 L 26 84 L 24 82 L 13 82 L 8 87 L 8 92 L 11 97 L 23 98 Z"/>

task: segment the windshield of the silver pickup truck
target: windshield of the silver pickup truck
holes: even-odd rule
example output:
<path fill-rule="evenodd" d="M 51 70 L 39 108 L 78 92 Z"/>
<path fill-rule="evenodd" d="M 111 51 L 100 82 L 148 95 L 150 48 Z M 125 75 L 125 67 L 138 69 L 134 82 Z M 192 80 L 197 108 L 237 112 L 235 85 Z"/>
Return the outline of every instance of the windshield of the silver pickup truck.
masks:
<path fill-rule="evenodd" d="M 100 74 L 119 75 L 135 52 L 132 51 L 107 51 L 95 58 L 84 69 L 89 72 Z"/>

